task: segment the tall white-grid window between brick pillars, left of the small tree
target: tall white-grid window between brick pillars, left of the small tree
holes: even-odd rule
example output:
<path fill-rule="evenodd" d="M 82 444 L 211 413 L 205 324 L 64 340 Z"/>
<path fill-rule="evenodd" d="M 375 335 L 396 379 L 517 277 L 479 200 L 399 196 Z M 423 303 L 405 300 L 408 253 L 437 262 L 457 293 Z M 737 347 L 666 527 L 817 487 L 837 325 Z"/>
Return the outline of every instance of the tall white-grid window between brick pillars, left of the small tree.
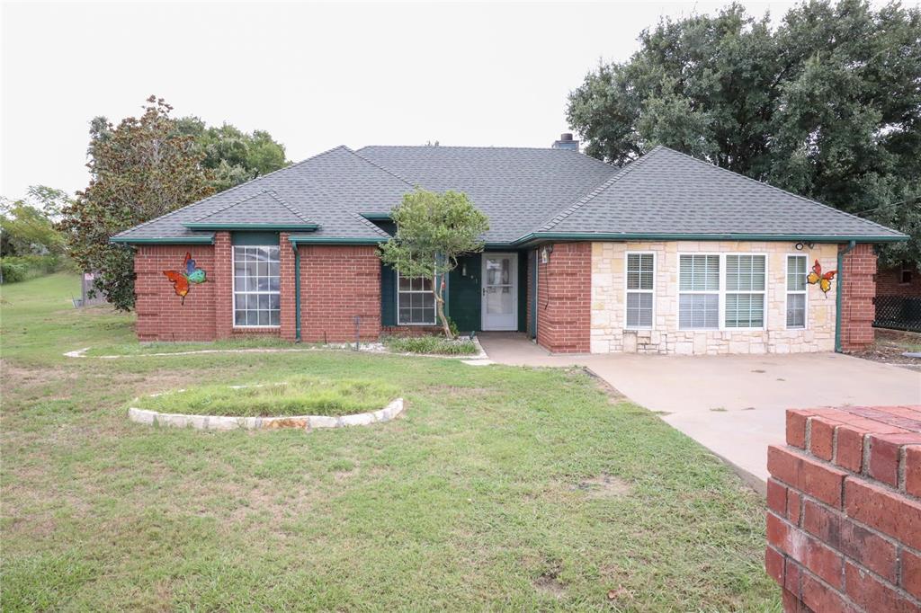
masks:
<path fill-rule="evenodd" d="M 237 328 L 281 325 L 277 245 L 233 248 L 233 322 Z"/>

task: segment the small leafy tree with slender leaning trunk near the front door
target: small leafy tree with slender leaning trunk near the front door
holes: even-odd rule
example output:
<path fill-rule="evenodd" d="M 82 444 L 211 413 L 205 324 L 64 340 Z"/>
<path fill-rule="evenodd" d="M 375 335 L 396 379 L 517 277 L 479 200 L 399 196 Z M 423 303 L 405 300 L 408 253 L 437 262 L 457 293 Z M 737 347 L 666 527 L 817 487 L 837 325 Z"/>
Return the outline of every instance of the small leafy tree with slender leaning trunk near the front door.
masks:
<path fill-rule="evenodd" d="M 445 278 L 458 258 L 482 251 L 480 236 L 489 229 L 486 215 L 466 194 L 416 189 L 391 212 L 396 234 L 380 248 L 380 259 L 404 277 L 432 280 L 438 320 L 445 336 L 454 338 L 445 317 Z"/>

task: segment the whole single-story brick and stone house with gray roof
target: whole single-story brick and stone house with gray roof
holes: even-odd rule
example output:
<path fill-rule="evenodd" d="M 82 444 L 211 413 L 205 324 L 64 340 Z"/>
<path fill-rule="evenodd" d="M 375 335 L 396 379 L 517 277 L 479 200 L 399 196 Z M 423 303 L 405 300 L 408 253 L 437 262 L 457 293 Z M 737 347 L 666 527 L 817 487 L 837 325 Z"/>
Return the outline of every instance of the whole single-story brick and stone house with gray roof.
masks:
<path fill-rule="evenodd" d="M 577 146 L 340 146 L 135 226 L 112 241 L 136 249 L 138 337 L 435 330 L 429 282 L 376 250 L 420 186 L 463 191 L 489 217 L 484 253 L 449 275 L 460 330 L 519 330 L 561 353 L 872 341 L 872 244 L 904 235 L 665 147 L 613 168 Z M 164 271 L 186 252 L 207 282 L 181 299 Z M 838 270 L 827 293 L 806 283 L 815 260 Z"/>

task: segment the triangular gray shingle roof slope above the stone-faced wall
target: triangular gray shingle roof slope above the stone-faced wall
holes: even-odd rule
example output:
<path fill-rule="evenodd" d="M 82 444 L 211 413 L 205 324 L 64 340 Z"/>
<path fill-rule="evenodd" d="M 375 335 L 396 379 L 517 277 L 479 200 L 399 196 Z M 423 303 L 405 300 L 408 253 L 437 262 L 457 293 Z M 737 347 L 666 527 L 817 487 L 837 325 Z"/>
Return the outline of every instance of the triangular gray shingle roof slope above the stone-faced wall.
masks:
<path fill-rule="evenodd" d="M 538 232 L 902 236 L 662 146 L 548 219 Z"/>

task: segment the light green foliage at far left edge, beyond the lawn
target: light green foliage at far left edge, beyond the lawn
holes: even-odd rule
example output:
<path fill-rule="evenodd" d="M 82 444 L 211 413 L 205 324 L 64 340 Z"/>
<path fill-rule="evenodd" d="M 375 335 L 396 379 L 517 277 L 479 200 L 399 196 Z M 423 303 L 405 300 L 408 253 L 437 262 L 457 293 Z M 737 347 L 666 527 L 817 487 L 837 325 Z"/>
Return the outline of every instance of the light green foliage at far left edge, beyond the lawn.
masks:
<path fill-rule="evenodd" d="M 0 255 L 60 255 L 64 237 L 54 227 L 71 202 L 67 192 L 33 185 L 25 198 L 0 198 Z"/>

